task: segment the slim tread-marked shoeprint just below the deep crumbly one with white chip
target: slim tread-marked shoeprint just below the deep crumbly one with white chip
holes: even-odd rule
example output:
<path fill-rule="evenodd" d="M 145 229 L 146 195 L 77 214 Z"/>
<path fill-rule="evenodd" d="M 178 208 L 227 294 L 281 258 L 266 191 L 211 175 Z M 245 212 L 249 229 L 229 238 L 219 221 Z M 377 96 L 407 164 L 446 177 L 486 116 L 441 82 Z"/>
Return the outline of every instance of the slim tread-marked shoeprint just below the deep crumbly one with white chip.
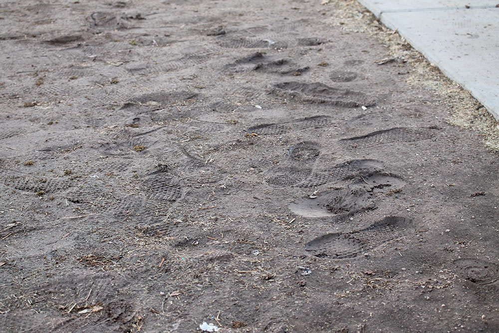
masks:
<path fill-rule="evenodd" d="M 260 124 L 248 128 L 247 133 L 258 135 L 281 135 L 292 130 L 303 130 L 307 128 L 321 128 L 333 123 L 329 116 L 314 116 L 283 123 Z"/>

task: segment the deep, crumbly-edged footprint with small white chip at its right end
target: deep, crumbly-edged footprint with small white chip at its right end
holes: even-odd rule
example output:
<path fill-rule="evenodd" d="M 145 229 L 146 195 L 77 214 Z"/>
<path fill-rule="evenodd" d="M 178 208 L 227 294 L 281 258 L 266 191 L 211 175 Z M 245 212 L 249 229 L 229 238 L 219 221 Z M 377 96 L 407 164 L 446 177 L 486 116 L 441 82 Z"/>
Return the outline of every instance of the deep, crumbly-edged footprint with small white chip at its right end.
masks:
<path fill-rule="evenodd" d="M 277 96 L 302 102 L 320 103 L 340 107 L 373 106 L 374 98 L 363 92 L 330 87 L 320 82 L 282 82 L 273 85 L 270 91 Z"/>

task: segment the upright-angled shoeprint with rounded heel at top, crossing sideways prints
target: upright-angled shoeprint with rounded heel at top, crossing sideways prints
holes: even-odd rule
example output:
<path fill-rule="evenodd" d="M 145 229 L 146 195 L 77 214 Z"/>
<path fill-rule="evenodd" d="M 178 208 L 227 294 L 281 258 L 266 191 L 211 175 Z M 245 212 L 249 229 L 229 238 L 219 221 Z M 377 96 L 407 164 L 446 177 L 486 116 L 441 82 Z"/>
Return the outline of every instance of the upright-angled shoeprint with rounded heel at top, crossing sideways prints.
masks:
<path fill-rule="evenodd" d="M 312 173 L 320 155 L 315 142 L 301 142 L 289 148 L 281 165 L 269 171 L 267 183 L 276 187 L 289 187 L 305 180 Z"/>

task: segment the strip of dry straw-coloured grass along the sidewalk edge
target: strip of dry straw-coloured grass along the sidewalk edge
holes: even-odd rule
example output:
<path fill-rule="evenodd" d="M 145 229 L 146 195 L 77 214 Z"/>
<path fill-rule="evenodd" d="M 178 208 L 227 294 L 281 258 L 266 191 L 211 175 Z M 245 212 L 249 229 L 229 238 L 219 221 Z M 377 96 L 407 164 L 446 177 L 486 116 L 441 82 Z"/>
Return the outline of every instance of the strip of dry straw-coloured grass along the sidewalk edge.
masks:
<path fill-rule="evenodd" d="M 498 121 L 469 91 L 447 78 L 434 64 L 415 50 L 396 31 L 388 29 L 364 6 L 354 0 L 329 1 L 332 16 L 328 23 L 340 25 L 352 32 L 366 32 L 381 41 L 390 56 L 404 59 L 412 67 L 407 82 L 432 92 L 441 104 L 449 108 L 448 123 L 472 129 L 483 137 L 483 143 L 499 151 Z M 328 12 L 329 14 L 329 12 Z"/>

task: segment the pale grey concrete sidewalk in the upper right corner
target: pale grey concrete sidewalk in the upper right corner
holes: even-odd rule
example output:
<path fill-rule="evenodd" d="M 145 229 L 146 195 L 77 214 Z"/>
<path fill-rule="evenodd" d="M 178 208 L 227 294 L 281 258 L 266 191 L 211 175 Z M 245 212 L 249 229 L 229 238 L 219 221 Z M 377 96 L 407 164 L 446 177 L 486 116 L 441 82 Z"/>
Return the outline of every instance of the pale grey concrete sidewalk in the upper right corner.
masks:
<path fill-rule="evenodd" d="M 499 119 L 498 0 L 359 0 Z"/>

